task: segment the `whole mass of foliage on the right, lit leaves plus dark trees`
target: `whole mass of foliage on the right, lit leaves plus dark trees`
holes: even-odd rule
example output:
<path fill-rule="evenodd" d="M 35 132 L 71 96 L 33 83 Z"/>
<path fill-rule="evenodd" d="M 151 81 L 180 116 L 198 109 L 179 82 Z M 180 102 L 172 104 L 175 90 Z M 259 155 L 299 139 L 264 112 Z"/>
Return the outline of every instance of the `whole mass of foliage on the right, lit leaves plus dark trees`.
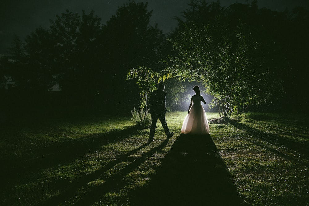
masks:
<path fill-rule="evenodd" d="M 191 1 L 189 5 L 170 35 L 176 51 L 170 58 L 171 68 L 176 76 L 203 84 L 206 92 L 214 96 L 212 104 L 219 113 L 230 117 L 248 105 L 278 106 L 282 97 L 298 99 L 298 105 L 306 104 L 308 98 L 301 95 L 300 99 L 296 94 L 304 92 L 302 79 L 307 78 L 308 66 L 305 58 L 295 54 L 308 54 L 300 43 L 307 44 L 300 30 L 307 31 L 308 24 L 302 23 L 308 11 L 258 9 L 256 1 L 227 8 L 219 1 Z M 299 33 L 292 34 L 295 27 Z M 295 64 L 296 59 L 302 66 Z"/>

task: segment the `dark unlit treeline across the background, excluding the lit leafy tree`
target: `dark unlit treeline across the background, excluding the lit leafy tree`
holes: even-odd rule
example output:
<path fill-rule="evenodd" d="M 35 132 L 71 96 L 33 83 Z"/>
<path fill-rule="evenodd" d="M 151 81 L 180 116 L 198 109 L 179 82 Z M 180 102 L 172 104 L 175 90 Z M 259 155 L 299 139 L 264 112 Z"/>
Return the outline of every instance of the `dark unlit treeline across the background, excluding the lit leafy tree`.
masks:
<path fill-rule="evenodd" d="M 256 2 L 228 8 L 219 2 L 192 1 L 190 5 L 168 34 L 149 24 L 152 11 L 147 3 L 129 1 L 106 24 L 95 11 L 80 15 L 67 10 L 56 15 L 49 28 L 37 28 L 25 41 L 16 36 L 10 54 L 0 59 L 2 116 L 4 111 L 6 116 L 25 111 L 52 115 L 116 110 L 129 114 L 140 102 L 138 85 L 126 80 L 129 69 L 145 66 L 160 72 L 166 67 L 164 60 L 175 52 L 173 39 L 190 24 L 199 27 L 214 21 L 222 27 L 236 27 L 242 22 L 248 35 L 265 42 L 261 51 L 268 56 L 268 63 L 282 63 L 277 72 L 282 73 L 285 93 L 274 105 L 307 111 L 308 10 L 277 12 L 259 9 Z M 52 91 L 56 84 L 59 92 Z M 182 98 L 188 98 L 186 84 L 176 80 L 166 84 L 173 92 L 167 105 L 175 110 Z"/>

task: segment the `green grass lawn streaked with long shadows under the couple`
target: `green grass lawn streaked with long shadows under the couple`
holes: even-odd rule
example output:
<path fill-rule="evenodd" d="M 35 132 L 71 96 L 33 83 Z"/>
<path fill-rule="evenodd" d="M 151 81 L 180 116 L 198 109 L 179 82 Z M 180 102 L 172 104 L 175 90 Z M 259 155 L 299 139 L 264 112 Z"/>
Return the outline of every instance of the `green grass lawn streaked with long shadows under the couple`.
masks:
<path fill-rule="evenodd" d="M 307 115 L 246 113 L 211 137 L 180 135 L 185 115 L 150 144 L 130 117 L 3 125 L 0 205 L 309 205 Z"/>

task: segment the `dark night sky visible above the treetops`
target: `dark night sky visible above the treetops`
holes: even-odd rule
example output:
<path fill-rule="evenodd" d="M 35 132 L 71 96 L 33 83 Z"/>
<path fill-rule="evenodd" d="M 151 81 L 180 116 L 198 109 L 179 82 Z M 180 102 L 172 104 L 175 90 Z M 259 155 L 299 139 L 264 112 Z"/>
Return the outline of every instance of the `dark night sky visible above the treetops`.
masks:
<path fill-rule="evenodd" d="M 49 20 L 54 20 L 56 14 L 61 14 L 66 9 L 79 14 L 82 10 L 87 14 L 95 10 L 95 14 L 102 18 L 102 24 L 105 24 L 125 2 L 128 0 L 0 0 L 0 54 L 6 53 L 15 34 L 24 39 L 39 26 L 48 28 Z M 181 12 L 188 8 L 188 2 L 190 0 L 148 0 L 148 10 L 153 10 L 150 24 L 158 23 L 164 32 L 171 31 L 176 26 L 176 20 L 173 18 L 180 16 Z M 222 6 L 229 6 L 236 2 L 245 3 L 245 0 L 220 2 Z M 277 11 L 296 6 L 308 9 L 308 2 L 309 0 L 259 0 L 258 6 Z"/>

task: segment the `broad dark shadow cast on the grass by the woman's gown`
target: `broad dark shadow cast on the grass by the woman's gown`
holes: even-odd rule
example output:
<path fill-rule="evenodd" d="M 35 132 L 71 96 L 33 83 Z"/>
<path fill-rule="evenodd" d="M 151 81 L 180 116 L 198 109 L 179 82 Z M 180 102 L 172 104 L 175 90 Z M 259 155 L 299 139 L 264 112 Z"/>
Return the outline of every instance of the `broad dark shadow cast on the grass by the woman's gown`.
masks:
<path fill-rule="evenodd" d="M 242 205 L 210 137 L 181 134 L 149 183 L 129 194 L 131 205 Z"/>

